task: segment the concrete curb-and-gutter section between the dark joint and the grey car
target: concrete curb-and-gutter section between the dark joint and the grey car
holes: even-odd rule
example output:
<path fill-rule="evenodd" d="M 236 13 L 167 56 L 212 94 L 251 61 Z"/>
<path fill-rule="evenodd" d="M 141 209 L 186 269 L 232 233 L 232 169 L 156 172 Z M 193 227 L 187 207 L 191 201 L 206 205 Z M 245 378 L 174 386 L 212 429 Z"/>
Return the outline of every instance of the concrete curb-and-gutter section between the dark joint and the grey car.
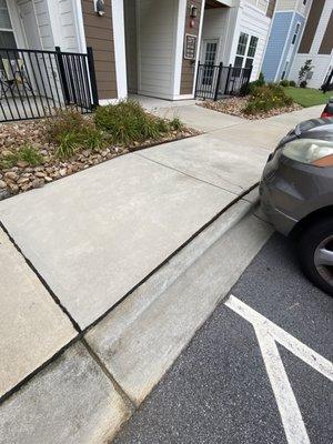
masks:
<path fill-rule="evenodd" d="M 232 208 L 231 219 L 238 212 L 243 214 L 249 205 L 242 202 L 238 209 Z M 137 405 L 161 380 L 273 231 L 248 215 L 225 232 L 222 226 L 230 222 L 228 213 L 87 334 L 94 352 Z"/>

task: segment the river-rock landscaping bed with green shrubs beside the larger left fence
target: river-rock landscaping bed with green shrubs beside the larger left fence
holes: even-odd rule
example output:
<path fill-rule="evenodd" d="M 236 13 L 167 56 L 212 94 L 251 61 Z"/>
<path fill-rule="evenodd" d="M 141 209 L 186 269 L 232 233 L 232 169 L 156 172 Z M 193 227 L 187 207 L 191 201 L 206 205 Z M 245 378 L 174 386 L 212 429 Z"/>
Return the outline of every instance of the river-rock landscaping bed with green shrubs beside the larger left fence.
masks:
<path fill-rule="evenodd" d="M 0 124 L 0 200 L 119 155 L 196 135 L 196 130 L 147 113 L 137 102 L 74 110 L 40 121 Z"/>

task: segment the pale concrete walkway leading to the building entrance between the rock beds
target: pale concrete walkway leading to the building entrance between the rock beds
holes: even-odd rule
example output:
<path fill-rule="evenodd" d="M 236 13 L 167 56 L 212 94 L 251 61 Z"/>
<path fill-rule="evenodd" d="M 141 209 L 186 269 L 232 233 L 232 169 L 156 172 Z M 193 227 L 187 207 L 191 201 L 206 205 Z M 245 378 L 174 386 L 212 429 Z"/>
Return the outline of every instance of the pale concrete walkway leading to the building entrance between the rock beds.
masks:
<path fill-rule="evenodd" d="M 158 108 L 152 110 L 155 114 L 173 119 L 179 118 L 183 123 L 196 130 L 211 132 L 222 128 L 244 123 L 244 119 L 221 112 L 208 110 L 196 104 Z"/>

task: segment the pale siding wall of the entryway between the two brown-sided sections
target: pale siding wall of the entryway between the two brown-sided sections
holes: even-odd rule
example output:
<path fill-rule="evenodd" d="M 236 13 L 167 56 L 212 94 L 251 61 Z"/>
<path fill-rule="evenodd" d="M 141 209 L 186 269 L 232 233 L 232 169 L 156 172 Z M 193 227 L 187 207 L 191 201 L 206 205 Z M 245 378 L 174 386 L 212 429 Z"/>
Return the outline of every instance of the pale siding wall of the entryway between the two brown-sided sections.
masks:
<path fill-rule="evenodd" d="M 138 92 L 173 98 L 178 0 L 140 0 Z"/>

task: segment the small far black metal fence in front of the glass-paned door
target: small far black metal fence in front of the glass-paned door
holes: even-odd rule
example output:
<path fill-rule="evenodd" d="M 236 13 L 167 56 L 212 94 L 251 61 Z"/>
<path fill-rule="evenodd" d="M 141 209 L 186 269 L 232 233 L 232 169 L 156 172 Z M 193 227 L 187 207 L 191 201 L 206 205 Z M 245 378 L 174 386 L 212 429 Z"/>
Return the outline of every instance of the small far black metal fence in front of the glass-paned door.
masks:
<path fill-rule="evenodd" d="M 198 67 L 195 97 L 219 100 L 226 95 L 240 95 L 242 87 L 250 82 L 251 68 L 230 64 L 201 64 Z"/>

